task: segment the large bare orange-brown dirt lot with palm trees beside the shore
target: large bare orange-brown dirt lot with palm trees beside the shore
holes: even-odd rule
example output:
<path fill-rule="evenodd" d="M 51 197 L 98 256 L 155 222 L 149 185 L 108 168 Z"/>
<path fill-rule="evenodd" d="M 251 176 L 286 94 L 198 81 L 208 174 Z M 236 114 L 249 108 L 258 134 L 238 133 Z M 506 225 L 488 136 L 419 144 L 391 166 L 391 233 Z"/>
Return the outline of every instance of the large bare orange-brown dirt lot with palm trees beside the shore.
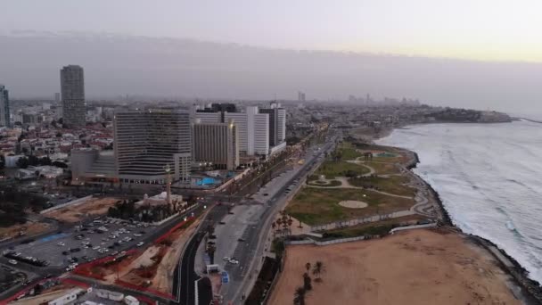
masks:
<path fill-rule="evenodd" d="M 357 243 L 288 246 L 285 271 L 269 304 L 292 304 L 305 264 L 316 260 L 324 262 L 325 271 L 307 294 L 310 305 L 521 304 L 488 251 L 462 235 L 430 230 Z"/>

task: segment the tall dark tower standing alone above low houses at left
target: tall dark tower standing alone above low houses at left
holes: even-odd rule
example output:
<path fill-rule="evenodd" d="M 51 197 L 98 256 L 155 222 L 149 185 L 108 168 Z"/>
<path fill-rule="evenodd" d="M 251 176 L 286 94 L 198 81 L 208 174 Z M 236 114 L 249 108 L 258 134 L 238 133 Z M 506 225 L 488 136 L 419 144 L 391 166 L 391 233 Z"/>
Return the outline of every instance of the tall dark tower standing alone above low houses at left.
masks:
<path fill-rule="evenodd" d="M 61 70 L 62 118 L 70 128 L 85 126 L 85 76 L 83 68 L 65 66 Z"/>

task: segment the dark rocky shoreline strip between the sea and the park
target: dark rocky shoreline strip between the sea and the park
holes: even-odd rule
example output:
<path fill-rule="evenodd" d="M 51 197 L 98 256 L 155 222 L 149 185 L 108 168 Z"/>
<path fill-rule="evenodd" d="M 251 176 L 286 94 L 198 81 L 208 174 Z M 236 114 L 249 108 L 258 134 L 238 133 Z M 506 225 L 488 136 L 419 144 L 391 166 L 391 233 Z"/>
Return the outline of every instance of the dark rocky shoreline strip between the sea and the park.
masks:
<path fill-rule="evenodd" d="M 398 128 L 404 128 L 404 127 L 398 127 Z M 393 132 L 395 128 L 389 128 L 386 129 L 382 134 L 379 133 L 378 135 L 374 135 L 374 140 L 390 136 L 390 134 Z M 382 145 L 386 146 L 386 145 Z M 452 221 L 452 218 L 450 218 L 448 214 L 448 210 L 444 207 L 444 204 L 442 200 L 440 199 L 439 193 L 435 191 L 433 186 L 425 181 L 423 177 L 420 177 L 418 174 L 415 173 L 413 169 L 417 168 L 417 164 L 420 163 L 419 156 L 417 152 L 410 151 L 408 149 L 402 148 L 402 147 L 394 147 L 394 146 L 388 146 L 393 147 L 396 149 L 403 150 L 405 152 L 409 152 L 413 155 L 413 159 L 409 162 L 409 164 L 406 165 L 406 169 L 410 170 L 413 175 L 420 178 L 421 181 L 425 184 L 425 186 L 430 190 L 431 194 L 435 198 L 435 201 L 439 205 L 439 210 L 442 215 L 442 219 L 439 219 L 439 222 L 442 224 L 443 227 L 448 227 L 451 230 L 456 231 L 457 234 L 464 235 L 467 237 L 472 243 L 477 244 L 478 246 L 484 248 L 486 251 L 489 251 L 492 253 L 493 257 L 497 260 L 498 265 L 500 268 L 502 268 L 509 276 L 513 278 L 513 281 L 519 289 L 521 289 L 521 301 L 524 301 L 526 304 L 542 304 L 542 286 L 535 280 L 531 279 L 528 274 L 529 272 L 527 269 L 523 268 L 520 263 L 518 263 L 517 260 L 514 260 L 513 257 L 511 257 L 508 253 L 506 253 L 505 250 L 499 248 L 497 244 L 492 243 L 488 239 L 485 239 L 483 237 L 480 237 L 478 235 L 472 235 L 467 234 L 461 230 L 461 228 L 456 227 L 454 222 Z M 512 287 L 511 290 L 513 291 Z M 515 293 L 513 291 L 513 293 Z"/>

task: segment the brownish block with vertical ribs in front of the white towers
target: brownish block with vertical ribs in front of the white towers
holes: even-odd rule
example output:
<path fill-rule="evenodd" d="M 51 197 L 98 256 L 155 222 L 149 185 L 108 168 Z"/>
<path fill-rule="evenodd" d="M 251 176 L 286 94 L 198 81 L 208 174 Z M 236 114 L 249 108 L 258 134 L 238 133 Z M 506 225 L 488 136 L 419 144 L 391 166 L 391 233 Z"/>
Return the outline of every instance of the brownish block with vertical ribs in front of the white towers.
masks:
<path fill-rule="evenodd" d="M 234 170 L 239 166 L 237 130 L 228 123 L 193 124 L 193 160 L 210 162 L 218 169 Z"/>

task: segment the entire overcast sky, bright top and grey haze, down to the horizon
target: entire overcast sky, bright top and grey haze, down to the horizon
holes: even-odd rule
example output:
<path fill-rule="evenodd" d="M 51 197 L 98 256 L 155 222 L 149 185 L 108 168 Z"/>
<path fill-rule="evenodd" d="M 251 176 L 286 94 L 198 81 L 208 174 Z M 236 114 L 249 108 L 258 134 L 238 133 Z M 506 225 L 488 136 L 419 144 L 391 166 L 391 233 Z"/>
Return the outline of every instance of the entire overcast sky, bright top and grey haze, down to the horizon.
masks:
<path fill-rule="evenodd" d="M 302 90 L 542 112 L 539 0 L 0 5 L 0 83 L 15 97 L 52 96 L 62 65 L 80 64 L 89 97 L 294 99 Z"/>

